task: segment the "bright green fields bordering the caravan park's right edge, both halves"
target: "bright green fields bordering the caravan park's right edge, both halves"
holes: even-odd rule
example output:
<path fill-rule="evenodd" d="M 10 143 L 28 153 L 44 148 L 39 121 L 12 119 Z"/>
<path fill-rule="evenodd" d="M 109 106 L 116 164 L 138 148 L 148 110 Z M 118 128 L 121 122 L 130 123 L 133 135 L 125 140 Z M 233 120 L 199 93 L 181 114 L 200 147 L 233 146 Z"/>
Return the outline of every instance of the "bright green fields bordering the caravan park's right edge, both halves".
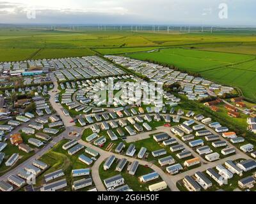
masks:
<path fill-rule="evenodd" d="M 256 99 L 256 60 L 254 55 L 167 48 L 159 52 L 129 54 L 140 60 L 166 63 L 200 73 L 214 82 L 239 87 L 246 98 Z"/>

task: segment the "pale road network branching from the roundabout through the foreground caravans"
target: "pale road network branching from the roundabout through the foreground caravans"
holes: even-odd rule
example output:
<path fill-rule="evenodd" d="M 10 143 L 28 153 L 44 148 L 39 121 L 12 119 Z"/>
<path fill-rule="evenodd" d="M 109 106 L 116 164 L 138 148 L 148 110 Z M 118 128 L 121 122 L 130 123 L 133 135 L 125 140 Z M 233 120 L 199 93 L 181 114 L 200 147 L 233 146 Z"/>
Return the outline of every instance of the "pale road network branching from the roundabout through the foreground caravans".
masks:
<path fill-rule="evenodd" d="M 150 115 L 154 115 L 154 114 L 150 114 Z M 161 114 L 161 115 L 165 116 L 165 114 Z M 141 115 L 141 116 L 143 116 L 143 115 Z M 174 116 L 174 115 L 171 115 L 171 116 Z M 191 118 L 182 116 L 182 119 L 190 120 Z M 116 120 L 119 120 L 119 119 L 116 119 Z M 98 124 L 100 124 L 100 122 Z M 202 124 L 202 123 L 196 121 L 196 124 Z M 86 126 L 85 128 L 90 128 L 90 127 L 92 127 L 92 125 Z M 52 145 L 60 142 L 63 138 L 76 139 L 76 140 L 79 141 L 79 143 L 81 143 L 85 147 L 90 147 L 94 150 L 97 150 L 97 152 L 100 153 L 99 159 L 92 166 L 93 181 L 95 182 L 95 186 L 97 187 L 97 189 L 99 191 L 106 191 L 106 188 L 102 184 L 102 182 L 100 180 L 100 177 L 99 177 L 99 166 L 100 166 L 100 164 L 102 164 L 102 162 L 107 157 L 109 157 L 111 155 L 115 155 L 116 158 L 118 158 L 118 159 L 126 158 L 127 161 L 130 161 L 130 162 L 138 161 L 141 165 L 146 165 L 147 164 L 150 168 L 152 168 L 152 170 L 159 173 L 160 177 L 168 184 L 168 187 L 170 187 L 170 189 L 172 191 L 179 191 L 179 189 L 176 187 L 176 183 L 177 183 L 178 180 L 183 179 L 185 175 L 193 175 L 196 171 L 205 171 L 207 168 L 212 168 L 212 167 L 216 166 L 217 164 L 225 163 L 225 161 L 227 161 L 228 159 L 230 159 L 230 160 L 236 160 L 236 159 L 240 159 L 240 158 L 250 159 L 250 157 L 248 155 L 244 154 L 243 152 L 241 152 L 241 150 L 238 150 L 234 145 L 232 145 L 231 143 L 228 142 L 229 147 L 234 147 L 237 150 L 237 154 L 235 156 L 226 157 L 225 159 L 221 159 L 221 160 L 215 161 L 213 163 L 206 162 L 202 157 L 200 157 L 200 159 L 203 161 L 202 166 L 200 166 L 198 168 L 195 168 L 193 170 L 190 170 L 190 171 L 186 171 L 184 173 L 180 173 L 179 175 L 171 176 L 171 175 L 168 175 L 167 173 L 164 173 L 164 171 L 161 170 L 161 168 L 157 167 L 156 165 L 154 165 L 152 163 L 148 163 L 147 161 L 142 161 L 142 160 L 134 159 L 134 158 L 131 158 L 131 157 L 122 156 L 120 154 L 113 154 L 111 152 L 107 152 L 105 150 L 100 149 L 99 147 L 95 147 L 95 146 L 91 145 L 90 143 L 84 142 L 83 140 L 81 140 L 81 136 L 79 138 L 70 138 L 68 136 L 68 133 L 70 133 L 70 131 L 77 131 L 78 133 L 80 133 L 82 135 L 85 128 L 77 128 L 77 127 L 70 127 L 70 126 L 67 127 L 66 130 L 63 133 L 61 133 L 59 136 L 56 136 L 52 140 L 51 143 L 49 143 L 43 149 L 36 152 L 35 156 L 30 157 L 24 163 L 22 163 L 19 166 L 13 168 L 13 170 L 9 171 L 8 173 L 6 173 L 2 177 L 0 177 L 0 180 L 6 180 L 10 175 L 17 174 L 21 168 L 24 168 L 26 165 L 31 164 L 34 159 L 38 159 L 41 156 L 43 156 L 48 150 L 50 150 L 52 148 Z M 216 133 L 214 130 L 212 130 L 208 126 L 205 126 L 205 128 L 208 129 L 209 131 L 211 131 L 212 134 L 219 135 L 218 133 Z M 158 132 L 161 131 L 161 127 L 157 131 Z M 166 131 L 166 129 L 164 129 L 164 131 Z M 170 133 L 170 130 L 167 130 L 167 132 Z M 147 134 L 149 135 L 151 133 L 147 132 Z M 186 149 L 193 152 L 193 156 L 198 157 L 198 154 L 196 154 L 195 151 L 193 151 L 193 149 L 188 147 L 188 145 L 186 145 L 186 143 L 182 142 L 182 140 L 180 140 L 177 136 L 175 136 L 173 134 L 171 134 L 171 135 L 173 137 L 177 138 L 177 140 L 180 143 L 182 143 L 186 147 Z M 220 136 L 220 140 L 225 140 L 225 139 Z M 225 140 L 225 141 L 227 141 L 227 140 Z"/>

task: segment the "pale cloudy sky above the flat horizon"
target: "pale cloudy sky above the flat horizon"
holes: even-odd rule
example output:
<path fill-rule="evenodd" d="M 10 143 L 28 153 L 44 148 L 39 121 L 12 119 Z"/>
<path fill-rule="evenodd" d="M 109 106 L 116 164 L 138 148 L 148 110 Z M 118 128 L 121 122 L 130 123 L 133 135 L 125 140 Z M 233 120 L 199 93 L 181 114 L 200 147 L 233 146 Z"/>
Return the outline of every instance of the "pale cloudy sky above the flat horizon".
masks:
<path fill-rule="evenodd" d="M 0 24 L 256 26 L 256 0 L 4 0 Z"/>

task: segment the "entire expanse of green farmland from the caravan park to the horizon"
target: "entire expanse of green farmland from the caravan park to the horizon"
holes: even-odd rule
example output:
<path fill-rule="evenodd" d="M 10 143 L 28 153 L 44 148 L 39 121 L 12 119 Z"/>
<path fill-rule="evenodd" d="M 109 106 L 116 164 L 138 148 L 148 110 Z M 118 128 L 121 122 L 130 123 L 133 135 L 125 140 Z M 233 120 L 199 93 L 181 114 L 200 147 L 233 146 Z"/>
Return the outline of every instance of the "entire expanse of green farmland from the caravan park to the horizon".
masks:
<path fill-rule="evenodd" d="M 165 31 L 47 30 L 43 27 L 0 29 L 0 61 L 127 54 L 200 73 L 210 80 L 239 87 L 255 96 L 256 38 L 253 29 L 211 33 Z M 148 52 L 157 50 L 159 52 Z M 161 49 L 168 48 L 168 49 Z M 141 53 L 138 53 L 141 52 Z M 241 77 L 242 76 L 242 77 Z"/>

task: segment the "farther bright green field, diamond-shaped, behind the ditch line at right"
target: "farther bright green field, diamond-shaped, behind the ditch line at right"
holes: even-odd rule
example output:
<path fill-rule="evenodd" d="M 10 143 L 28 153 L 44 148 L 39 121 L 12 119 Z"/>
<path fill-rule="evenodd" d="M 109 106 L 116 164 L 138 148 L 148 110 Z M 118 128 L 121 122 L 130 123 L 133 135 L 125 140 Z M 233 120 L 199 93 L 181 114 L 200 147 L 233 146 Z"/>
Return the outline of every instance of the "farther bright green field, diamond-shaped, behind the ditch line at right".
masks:
<path fill-rule="evenodd" d="M 150 59 L 171 64 L 179 69 L 197 73 L 255 59 L 253 55 L 207 52 L 183 48 L 166 48 L 161 49 L 159 52 L 129 54 L 129 56 L 135 59 Z"/>

